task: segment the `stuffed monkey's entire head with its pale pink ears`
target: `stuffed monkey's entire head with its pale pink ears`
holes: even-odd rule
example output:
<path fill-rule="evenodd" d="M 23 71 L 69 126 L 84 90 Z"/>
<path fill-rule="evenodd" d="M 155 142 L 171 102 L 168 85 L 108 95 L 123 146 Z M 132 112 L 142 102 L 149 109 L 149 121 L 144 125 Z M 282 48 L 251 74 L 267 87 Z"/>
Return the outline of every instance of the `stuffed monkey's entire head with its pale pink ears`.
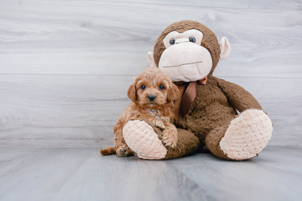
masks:
<path fill-rule="evenodd" d="M 183 20 L 169 25 L 148 52 L 151 67 L 166 72 L 173 82 L 197 81 L 212 74 L 219 60 L 231 51 L 226 37 L 218 42 L 215 34 L 197 21 Z"/>

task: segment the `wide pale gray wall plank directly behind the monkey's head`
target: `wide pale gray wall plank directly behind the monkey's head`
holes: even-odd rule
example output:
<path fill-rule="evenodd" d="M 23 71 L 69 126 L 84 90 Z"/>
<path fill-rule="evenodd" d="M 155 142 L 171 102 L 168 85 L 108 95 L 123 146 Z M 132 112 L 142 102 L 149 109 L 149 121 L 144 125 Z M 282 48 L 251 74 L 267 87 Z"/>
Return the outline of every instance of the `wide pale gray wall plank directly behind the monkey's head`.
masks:
<path fill-rule="evenodd" d="M 282 3 L 284 4 L 284 3 Z M 137 75 L 160 33 L 204 23 L 231 55 L 216 76 L 302 77 L 302 12 L 107 1 L 2 1 L 1 74 Z"/>

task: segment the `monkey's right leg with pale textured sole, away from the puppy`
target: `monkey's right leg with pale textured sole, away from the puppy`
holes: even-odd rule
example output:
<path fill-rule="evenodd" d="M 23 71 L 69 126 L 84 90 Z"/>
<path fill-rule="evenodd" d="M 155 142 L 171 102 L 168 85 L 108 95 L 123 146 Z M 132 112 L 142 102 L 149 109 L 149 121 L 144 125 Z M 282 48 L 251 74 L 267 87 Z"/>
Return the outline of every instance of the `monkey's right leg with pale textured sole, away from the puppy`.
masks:
<path fill-rule="evenodd" d="M 243 111 L 229 125 L 213 129 L 206 136 L 206 146 L 216 156 L 245 160 L 262 151 L 273 131 L 271 119 L 262 110 Z"/>

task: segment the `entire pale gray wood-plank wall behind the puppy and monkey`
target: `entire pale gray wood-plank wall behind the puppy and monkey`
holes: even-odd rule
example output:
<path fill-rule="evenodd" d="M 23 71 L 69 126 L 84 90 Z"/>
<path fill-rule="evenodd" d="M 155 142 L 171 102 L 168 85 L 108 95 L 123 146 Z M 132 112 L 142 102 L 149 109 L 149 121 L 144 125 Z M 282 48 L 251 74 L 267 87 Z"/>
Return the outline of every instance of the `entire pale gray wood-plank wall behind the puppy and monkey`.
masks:
<path fill-rule="evenodd" d="M 104 147 L 133 77 L 171 23 L 225 36 L 214 75 L 250 91 L 268 145 L 302 144 L 302 2 L 0 0 L 0 146 Z"/>

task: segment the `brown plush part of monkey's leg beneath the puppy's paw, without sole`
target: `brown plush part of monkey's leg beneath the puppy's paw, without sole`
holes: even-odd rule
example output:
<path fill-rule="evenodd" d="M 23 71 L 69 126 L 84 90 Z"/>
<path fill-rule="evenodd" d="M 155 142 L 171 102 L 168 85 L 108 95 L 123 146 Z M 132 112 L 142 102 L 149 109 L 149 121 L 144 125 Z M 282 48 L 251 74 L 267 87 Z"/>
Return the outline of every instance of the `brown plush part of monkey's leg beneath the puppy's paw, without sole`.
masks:
<path fill-rule="evenodd" d="M 166 147 L 167 154 L 165 159 L 172 159 L 178 158 L 182 156 L 187 156 L 194 153 L 199 145 L 198 137 L 194 135 L 194 133 L 184 130 L 184 129 L 177 129 L 178 131 L 178 142 L 175 148 Z"/>

